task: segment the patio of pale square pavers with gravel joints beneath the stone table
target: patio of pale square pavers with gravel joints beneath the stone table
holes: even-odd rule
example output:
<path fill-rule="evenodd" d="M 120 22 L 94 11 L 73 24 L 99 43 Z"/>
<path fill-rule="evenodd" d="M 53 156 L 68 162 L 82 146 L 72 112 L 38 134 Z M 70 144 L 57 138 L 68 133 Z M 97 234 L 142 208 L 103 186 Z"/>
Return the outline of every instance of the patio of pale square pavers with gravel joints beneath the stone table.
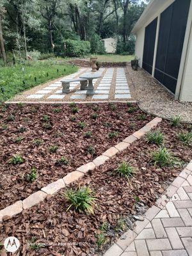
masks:
<path fill-rule="evenodd" d="M 80 75 L 91 72 L 90 68 L 80 68 L 78 72 L 62 77 L 61 79 L 74 79 Z M 98 101 L 98 100 L 130 100 L 131 93 L 125 68 L 100 68 L 97 71 L 101 74 L 99 79 L 93 79 L 95 95 L 87 96 L 86 90 L 80 90 L 80 82 L 70 83 L 70 93 L 62 93 L 61 82 L 47 85 L 40 85 L 16 95 L 11 102 L 70 102 L 70 101 Z"/>

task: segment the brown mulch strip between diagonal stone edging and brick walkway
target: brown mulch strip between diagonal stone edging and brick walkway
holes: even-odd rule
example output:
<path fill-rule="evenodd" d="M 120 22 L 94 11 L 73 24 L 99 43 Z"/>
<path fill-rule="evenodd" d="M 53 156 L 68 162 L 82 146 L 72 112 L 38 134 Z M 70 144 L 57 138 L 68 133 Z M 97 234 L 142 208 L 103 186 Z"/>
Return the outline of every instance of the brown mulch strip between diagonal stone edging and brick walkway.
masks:
<path fill-rule="evenodd" d="M 75 188 L 86 184 L 95 191 L 98 201 L 94 215 L 77 213 L 74 209 L 66 212 L 68 202 L 63 198 L 63 190 L 15 218 L 0 223 L 0 241 L 8 236 L 16 236 L 22 244 L 20 254 L 17 255 L 100 255 L 96 236 L 102 223 L 108 223 L 105 235 L 109 246 L 109 242 L 124 232 L 117 227 L 118 220 L 124 217 L 130 224 L 132 214 L 143 213 L 152 206 L 191 160 L 191 146 L 183 145 L 176 135 L 176 132 L 191 131 L 191 127 L 182 125 L 173 129 L 168 121 L 163 121 L 159 129 L 164 133 L 166 147 L 180 159 L 180 166 L 154 166 L 151 153 L 157 146 L 147 144 L 143 138 L 103 166 L 86 174 L 79 184 L 72 185 Z M 118 164 L 124 160 L 137 170 L 130 180 L 114 173 Z M 28 243 L 31 241 L 44 243 L 45 248 L 30 248 Z"/>

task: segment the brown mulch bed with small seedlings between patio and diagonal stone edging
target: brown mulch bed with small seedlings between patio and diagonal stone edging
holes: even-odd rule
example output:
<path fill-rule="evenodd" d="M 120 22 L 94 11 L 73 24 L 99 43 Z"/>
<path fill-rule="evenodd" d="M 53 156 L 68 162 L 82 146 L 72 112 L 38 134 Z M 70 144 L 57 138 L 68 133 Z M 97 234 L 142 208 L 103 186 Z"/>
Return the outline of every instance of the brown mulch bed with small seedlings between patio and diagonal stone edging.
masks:
<path fill-rule="evenodd" d="M 127 113 L 127 104 L 113 105 L 115 110 L 110 104 L 78 104 L 79 112 L 76 114 L 72 114 L 68 104 L 1 106 L 0 210 L 92 161 L 152 119 L 135 104 L 132 104 L 137 108 L 134 113 Z M 92 118 L 93 113 L 98 115 L 96 120 Z M 48 121 L 44 120 L 45 115 Z M 146 120 L 140 120 L 141 115 Z M 72 120 L 73 116 L 76 120 Z M 86 124 L 84 129 L 79 128 L 80 121 Z M 50 127 L 44 127 L 45 124 Z M 87 131 L 92 132 L 91 138 L 84 137 Z M 118 137 L 109 138 L 109 132 L 114 131 L 118 132 Z M 15 141 L 19 137 L 21 141 Z M 42 145 L 35 145 L 35 140 L 43 140 Z M 53 145 L 58 146 L 55 153 L 49 151 Z M 94 154 L 88 153 L 90 146 L 95 150 Z M 8 163 L 16 154 L 24 159 L 24 163 Z M 57 164 L 61 157 L 67 158 L 68 165 Z M 31 168 L 36 168 L 38 175 L 33 183 L 26 180 Z"/>

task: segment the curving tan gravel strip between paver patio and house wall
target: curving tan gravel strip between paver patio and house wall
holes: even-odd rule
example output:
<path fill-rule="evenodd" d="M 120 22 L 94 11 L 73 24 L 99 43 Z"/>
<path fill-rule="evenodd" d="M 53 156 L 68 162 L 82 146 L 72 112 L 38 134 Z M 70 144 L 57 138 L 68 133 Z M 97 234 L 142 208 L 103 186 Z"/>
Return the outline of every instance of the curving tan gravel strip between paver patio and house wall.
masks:
<path fill-rule="evenodd" d="M 175 100 L 170 92 L 141 68 L 134 71 L 127 66 L 127 72 L 132 98 L 138 100 L 143 111 L 168 119 L 180 115 L 183 122 L 192 123 L 191 102 Z"/>

